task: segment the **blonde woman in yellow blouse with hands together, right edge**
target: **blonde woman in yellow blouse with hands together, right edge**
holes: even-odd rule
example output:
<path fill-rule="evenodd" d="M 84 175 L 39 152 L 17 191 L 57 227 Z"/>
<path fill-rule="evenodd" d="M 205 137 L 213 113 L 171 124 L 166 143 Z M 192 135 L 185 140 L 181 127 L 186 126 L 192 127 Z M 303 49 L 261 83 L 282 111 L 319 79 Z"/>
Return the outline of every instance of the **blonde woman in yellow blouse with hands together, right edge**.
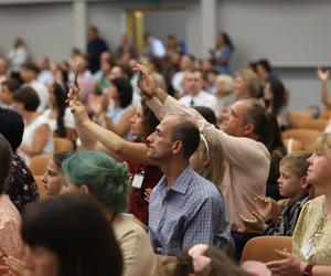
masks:
<path fill-rule="evenodd" d="M 303 205 L 292 236 L 292 253 L 277 251 L 284 259 L 268 263 L 274 274 L 327 276 L 331 272 L 330 135 L 317 140 L 308 164 L 307 181 L 322 195 Z"/>

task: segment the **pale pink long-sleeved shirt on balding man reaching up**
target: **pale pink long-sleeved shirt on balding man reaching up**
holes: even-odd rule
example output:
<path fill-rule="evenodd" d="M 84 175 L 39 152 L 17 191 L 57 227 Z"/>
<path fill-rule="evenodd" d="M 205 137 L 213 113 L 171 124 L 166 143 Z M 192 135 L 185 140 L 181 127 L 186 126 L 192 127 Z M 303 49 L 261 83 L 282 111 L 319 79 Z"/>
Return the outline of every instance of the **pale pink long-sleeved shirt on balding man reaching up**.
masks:
<path fill-rule="evenodd" d="M 162 105 L 159 99 L 152 98 L 148 106 L 159 117 L 178 114 L 192 118 L 200 130 L 214 136 L 223 146 L 225 174 L 223 179 L 223 194 L 225 211 L 233 230 L 244 230 L 239 217 L 252 217 L 257 211 L 255 198 L 265 195 L 266 182 L 269 176 L 270 155 L 267 148 L 256 140 L 233 137 L 209 124 L 195 109 L 181 105 L 168 96 Z"/>

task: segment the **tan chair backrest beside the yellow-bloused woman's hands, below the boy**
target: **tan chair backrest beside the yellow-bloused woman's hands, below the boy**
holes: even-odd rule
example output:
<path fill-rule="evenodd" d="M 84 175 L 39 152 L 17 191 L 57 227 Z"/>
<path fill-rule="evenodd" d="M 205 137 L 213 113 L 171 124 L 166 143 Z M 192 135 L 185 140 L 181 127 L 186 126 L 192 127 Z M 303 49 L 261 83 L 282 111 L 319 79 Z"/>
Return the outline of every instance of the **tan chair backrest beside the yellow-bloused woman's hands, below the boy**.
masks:
<path fill-rule="evenodd" d="M 290 236 L 257 236 L 249 240 L 243 251 L 241 262 L 259 261 L 267 263 L 275 259 L 281 259 L 277 256 L 275 250 L 292 251 L 292 238 Z"/>

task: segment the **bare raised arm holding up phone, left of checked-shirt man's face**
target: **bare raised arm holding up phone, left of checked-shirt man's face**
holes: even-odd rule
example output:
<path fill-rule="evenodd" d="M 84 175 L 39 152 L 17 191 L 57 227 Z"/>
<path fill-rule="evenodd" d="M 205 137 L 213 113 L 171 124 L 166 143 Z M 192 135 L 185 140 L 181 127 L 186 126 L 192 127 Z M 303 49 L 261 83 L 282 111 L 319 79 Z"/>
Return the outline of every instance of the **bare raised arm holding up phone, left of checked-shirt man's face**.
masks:
<path fill-rule="evenodd" d="M 125 160 L 135 160 L 147 164 L 157 164 L 147 158 L 147 146 L 143 142 L 127 141 L 115 132 L 107 130 L 88 118 L 85 107 L 78 100 L 78 89 L 73 87 L 70 106 L 75 119 L 75 126 L 84 147 L 98 149 L 100 142 L 106 149 Z"/>

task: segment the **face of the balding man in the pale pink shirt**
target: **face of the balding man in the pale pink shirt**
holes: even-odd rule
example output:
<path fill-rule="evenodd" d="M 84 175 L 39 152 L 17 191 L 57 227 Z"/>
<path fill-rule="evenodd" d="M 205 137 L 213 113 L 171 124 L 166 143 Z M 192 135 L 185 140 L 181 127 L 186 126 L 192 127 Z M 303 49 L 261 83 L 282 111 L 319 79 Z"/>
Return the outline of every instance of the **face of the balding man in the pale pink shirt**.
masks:
<path fill-rule="evenodd" d="M 245 115 L 247 114 L 247 103 L 242 100 L 234 103 L 228 108 L 228 112 L 224 115 L 224 123 L 222 129 L 231 136 L 245 137 L 247 130 Z"/>

